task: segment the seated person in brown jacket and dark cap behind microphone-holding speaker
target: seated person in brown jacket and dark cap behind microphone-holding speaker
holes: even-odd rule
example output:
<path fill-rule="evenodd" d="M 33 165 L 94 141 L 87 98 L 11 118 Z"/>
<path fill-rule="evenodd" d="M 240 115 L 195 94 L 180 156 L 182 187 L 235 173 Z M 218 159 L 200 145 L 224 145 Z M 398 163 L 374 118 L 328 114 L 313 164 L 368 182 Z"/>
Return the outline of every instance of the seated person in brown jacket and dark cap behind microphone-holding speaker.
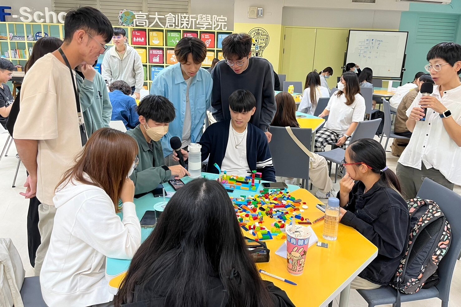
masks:
<path fill-rule="evenodd" d="M 397 108 L 396 121 L 394 125 L 395 134 L 401 135 L 407 138 L 411 138 L 412 133 L 408 130 L 408 127 L 407 127 L 407 121 L 408 121 L 407 110 L 410 107 L 410 105 L 413 103 L 418 93 L 420 93 L 421 85 L 424 82 L 431 82 L 432 84 L 434 84 L 434 81 L 432 80 L 432 77 L 430 74 L 421 75 L 416 80 L 417 87 L 410 90 L 405 95 L 405 97 L 403 97 L 402 102 L 399 104 L 399 107 Z"/>

